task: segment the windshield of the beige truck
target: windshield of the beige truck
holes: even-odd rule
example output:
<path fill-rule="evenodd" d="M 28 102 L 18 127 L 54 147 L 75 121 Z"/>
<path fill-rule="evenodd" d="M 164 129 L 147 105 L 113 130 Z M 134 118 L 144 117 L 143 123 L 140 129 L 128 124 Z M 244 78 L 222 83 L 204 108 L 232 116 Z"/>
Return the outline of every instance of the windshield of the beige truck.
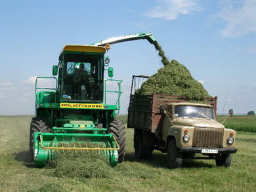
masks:
<path fill-rule="evenodd" d="M 213 108 L 202 106 L 175 106 L 175 117 L 215 119 Z"/>

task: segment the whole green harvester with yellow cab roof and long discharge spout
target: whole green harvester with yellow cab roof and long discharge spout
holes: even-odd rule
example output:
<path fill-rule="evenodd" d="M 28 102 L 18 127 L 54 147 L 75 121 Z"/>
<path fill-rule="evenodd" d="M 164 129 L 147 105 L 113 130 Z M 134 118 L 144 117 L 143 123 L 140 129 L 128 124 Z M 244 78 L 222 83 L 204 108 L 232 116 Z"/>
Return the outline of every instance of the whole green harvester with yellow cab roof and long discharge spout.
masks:
<path fill-rule="evenodd" d="M 54 77 L 37 77 L 36 117 L 30 126 L 30 155 L 35 165 L 45 166 L 60 150 L 97 151 L 111 166 L 123 161 L 125 126 L 116 119 L 122 81 L 112 79 L 113 68 L 104 55 L 109 43 L 136 39 L 156 41 L 152 33 L 139 33 L 93 45 L 66 45 L 58 65 L 53 66 Z M 110 79 L 104 79 L 105 69 Z M 39 86 L 45 79 L 53 79 L 54 86 Z M 117 84 L 117 90 L 107 89 L 109 81 Z M 107 94 L 117 94 L 115 104 L 108 104 Z"/>

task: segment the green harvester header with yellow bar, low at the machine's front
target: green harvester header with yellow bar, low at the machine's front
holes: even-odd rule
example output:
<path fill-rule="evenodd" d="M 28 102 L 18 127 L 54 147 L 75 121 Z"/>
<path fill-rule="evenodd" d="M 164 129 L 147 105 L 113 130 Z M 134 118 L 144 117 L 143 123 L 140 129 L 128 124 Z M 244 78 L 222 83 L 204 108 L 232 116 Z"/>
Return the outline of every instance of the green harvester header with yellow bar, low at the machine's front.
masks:
<path fill-rule="evenodd" d="M 99 151 L 110 160 L 110 166 L 118 163 L 119 145 L 112 134 L 74 134 L 35 132 L 34 163 L 44 166 L 55 159 L 58 151 Z"/>

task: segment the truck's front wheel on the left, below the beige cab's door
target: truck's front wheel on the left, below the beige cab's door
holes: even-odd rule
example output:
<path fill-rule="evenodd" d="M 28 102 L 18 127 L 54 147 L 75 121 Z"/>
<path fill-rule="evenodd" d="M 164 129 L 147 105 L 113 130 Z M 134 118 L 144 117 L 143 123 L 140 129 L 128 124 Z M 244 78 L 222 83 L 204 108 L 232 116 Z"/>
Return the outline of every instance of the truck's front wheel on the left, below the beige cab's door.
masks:
<path fill-rule="evenodd" d="M 182 154 L 176 147 L 175 140 L 171 140 L 167 147 L 167 164 L 169 168 L 179 168 L 182 164 Z"/>

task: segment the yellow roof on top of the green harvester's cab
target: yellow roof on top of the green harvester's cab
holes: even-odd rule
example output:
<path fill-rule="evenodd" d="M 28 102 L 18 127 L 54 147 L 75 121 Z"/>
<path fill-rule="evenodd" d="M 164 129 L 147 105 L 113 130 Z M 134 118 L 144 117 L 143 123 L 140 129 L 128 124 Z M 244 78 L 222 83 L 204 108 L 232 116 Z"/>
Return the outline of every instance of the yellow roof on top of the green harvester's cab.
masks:
<path fill-rule="evenodd" d="M 91 45 L 65 45 L 62 51 L 60 52 L 60 55 L 65 51 L 105 53 L 106 48 Z"/>

